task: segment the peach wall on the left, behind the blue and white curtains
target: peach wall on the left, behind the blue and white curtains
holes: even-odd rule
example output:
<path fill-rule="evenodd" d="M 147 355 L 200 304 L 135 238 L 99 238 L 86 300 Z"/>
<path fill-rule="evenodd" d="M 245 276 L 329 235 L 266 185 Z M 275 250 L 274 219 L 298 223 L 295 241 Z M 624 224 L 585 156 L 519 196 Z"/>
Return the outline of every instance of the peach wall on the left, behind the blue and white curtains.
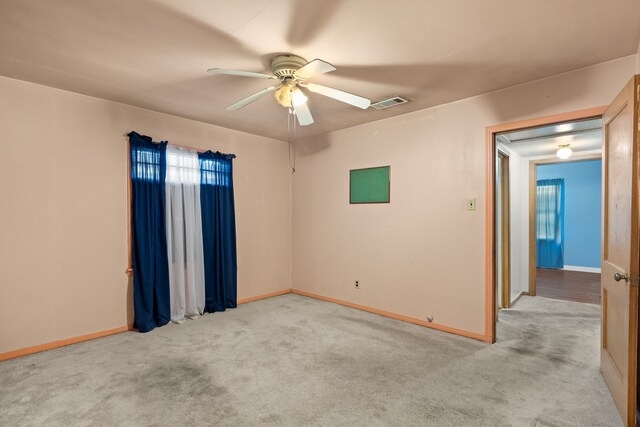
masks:
<path fill-rule="evenodd" d="M 290 288 L 287 144 L 4 77 L 0 94 L 0 353 L 130 321 L 130 130 L 237 154 L 238 297 Z"/>

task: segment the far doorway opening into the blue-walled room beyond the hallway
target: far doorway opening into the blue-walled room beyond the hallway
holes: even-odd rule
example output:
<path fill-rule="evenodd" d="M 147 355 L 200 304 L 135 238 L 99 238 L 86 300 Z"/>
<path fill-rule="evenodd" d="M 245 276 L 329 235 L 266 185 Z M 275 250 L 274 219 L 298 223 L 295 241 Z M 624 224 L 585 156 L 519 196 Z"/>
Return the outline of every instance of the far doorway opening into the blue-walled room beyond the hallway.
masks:
<path fill-rule="evenodd" d="M 602 139 L 601 120 L 581 136 Z M 587 124 L 585 121 L 583 124 Z M 602 247 L 602 155 L 582 154 L 558 161 L 533 161 L 529 215 L 536 225 L 530 233 L 532 263 L 530 293 L 546 298 L 600 304 Z M 551 192 L 561 190 L 562 206 L 553 209 Z M 554 235 L 557 234 L 557 235 Z M 545 239 L 546 238 L 546 239 Z"/>

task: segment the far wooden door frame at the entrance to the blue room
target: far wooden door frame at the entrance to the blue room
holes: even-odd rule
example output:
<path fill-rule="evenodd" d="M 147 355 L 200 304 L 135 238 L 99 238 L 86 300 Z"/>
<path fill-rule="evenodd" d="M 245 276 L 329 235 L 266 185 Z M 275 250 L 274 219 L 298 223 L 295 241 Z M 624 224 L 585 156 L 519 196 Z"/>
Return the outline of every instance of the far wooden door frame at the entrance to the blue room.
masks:
<path fill-rule="evenodd" d="M 588 162 L 590 160 L 602 160 L 602 153 L 591 153 L 571 156 L 568 159 L 548 158 L 529 161 L 529 291 L 528 295 L 536 295 L 536 183 L 539 165 L 554 165 L 558 163 Z M 603 190 L 604 191 L 604 190 Z M 602 194 L 601 194 L 602 196 Z M 602 242 L 601 242 L 602 243 Z"/>

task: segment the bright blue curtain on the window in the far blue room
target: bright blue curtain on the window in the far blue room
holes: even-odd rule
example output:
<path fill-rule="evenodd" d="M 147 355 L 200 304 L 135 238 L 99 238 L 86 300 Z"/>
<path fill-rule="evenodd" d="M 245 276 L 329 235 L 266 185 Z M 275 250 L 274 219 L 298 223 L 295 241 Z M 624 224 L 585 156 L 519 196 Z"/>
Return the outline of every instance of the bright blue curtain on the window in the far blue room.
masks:
<path fill-rule="evenodd" d="M 536 267 L 564 267 L 564 179 L 542 179 L 536 186 Z"/>

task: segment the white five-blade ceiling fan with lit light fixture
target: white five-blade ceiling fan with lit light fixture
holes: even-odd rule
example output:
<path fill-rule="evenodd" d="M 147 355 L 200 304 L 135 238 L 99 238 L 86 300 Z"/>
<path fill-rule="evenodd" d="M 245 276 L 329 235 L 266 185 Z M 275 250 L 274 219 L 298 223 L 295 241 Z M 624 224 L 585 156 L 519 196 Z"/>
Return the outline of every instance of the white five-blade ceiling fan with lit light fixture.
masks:
<path fill-rule="evenodd" d="M 266 94 L 273 92 L 276 101 L 295 114 L 300 126 L 306 126 L 313 123 L 313 116 L 311 115 L 311 111 L 309 111 L 309 106 L 307 105 L 307 97 L 300 90 L 301 87 L 309 90 L 309 92 L 324 95 L 355 107 L 362 108 L 363 110 L 366 110 L 369 108 L 369 105 L 371 105 L 371 100 L 363 98 L 362 96 L 315 83 L 307 83 L 307 80 L 320 74 L 329 73 L 335 69 L 336 68 L 333 65 L 321 59 L 314 59 L 313 61 L 307 62 L 307 60 L 297 55 L 278 55 L 271 61 L 272 74 L 228 70 L 224 68 L 211 68 L 207 71 L 212 74 L 230 74 L 234 76 L 278 80 L 280 84 L 262 89 L 261 91 L 228 106 L 226 109 L 229 111 L 239 110 L 240 108 L 257 101 Z"/>

